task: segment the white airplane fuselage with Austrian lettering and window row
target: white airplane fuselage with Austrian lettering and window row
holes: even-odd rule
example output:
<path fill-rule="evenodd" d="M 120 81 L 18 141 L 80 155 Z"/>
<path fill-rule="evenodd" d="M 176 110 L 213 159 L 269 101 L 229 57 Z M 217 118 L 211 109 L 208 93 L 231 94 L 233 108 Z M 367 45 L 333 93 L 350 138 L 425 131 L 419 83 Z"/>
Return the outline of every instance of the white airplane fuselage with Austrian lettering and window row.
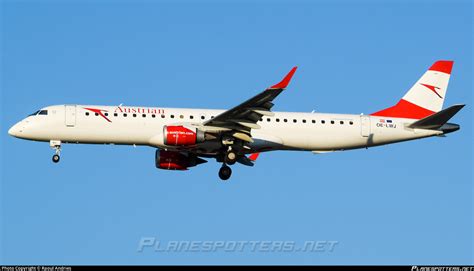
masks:
<path fill-rule="evenodd" d="M 87 109 L 86 109 L 87 108 Z M 57 105 L 43 108 L 14 125 L 13 136 L 64 143 L 147 145 L 174 149 L 163 142 L 166 125 L 199 126 L 224 110 L 129 106 Z M 96 110 L 96 111 L 92 111 Z M 338 151 L 443 134 L 408 128 L 413 119 L 370 115 L 275 112 L 252 130 L 252 151 Z M 200 143 L 194 151 L 213 154 L 219 144 Z"/>

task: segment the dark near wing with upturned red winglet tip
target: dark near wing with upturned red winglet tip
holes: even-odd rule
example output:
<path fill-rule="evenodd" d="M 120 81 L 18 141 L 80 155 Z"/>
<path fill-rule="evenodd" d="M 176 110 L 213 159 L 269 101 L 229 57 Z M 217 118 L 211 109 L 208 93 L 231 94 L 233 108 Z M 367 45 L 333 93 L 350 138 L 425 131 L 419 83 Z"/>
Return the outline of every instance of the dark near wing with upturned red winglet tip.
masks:
<path fill-rule="evenodd" d="M 238 139 L 253 142 L 250 131 L 251 129 L 259 129 L 257 124 L 262 116 L 273 116 L 270 111 L 273 107 L 273 100 L 288 86 L 297 67 L 293 67 L 291 71 L 283 78 L 283 80 L 265 89 L 260 94 L 248 99 L 247 101 L 231 108 L 215 118 L 203 123 L 203 126 L 209 128 L 221 128 L 221 131 L 230 131 L 230 133 Z"/>

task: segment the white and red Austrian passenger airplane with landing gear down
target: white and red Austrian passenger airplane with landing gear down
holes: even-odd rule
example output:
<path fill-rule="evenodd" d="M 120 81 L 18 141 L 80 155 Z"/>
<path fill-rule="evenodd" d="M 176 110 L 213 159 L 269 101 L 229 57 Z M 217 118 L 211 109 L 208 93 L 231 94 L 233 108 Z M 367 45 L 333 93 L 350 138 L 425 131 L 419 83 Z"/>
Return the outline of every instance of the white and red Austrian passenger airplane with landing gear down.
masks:
<path fill-rule="evenodd" d="M 216 159 L 219 177 L 229 165 L 254 166 L 262 152 L 354 150 L 459 130 L 448 121 L 464 107 L 443 108 L 453 61 L 436 61 L 395 105 L 372 114 L 274 112 L 275 98 L 297 67 L 278 84 L 229 109 L 54 105 L 12 126 L 11 136 L 49 142 L 59 162 L 63 143 L 140 145 L 156 148 L 155 166 L 187 170 Z"/>

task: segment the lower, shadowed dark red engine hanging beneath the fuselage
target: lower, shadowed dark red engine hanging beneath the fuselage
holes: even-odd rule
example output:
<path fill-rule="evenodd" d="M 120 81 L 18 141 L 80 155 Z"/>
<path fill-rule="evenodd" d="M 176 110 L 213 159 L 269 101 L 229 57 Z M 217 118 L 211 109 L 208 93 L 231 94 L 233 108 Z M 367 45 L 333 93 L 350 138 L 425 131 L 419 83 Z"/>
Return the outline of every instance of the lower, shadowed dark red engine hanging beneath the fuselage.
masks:
<path fill-rule="evenodd" d="M 156 150 L 155 166 L 160 169 L 186 170 L 188 167 L 206 163 L 207 161 L 194 154 L 183 154 L 175 151 Z"/>

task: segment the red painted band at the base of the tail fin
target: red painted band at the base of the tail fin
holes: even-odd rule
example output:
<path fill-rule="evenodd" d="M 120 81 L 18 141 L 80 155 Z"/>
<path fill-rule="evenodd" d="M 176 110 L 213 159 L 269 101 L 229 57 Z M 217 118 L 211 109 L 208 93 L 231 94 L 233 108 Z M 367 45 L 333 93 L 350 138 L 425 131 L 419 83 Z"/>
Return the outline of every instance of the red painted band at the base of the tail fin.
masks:
<path fill-rule="evenodd" d="M 396 105 L 370 114 L 377 117 L 422 119 L 435 112 L 401 99 Z"/>

